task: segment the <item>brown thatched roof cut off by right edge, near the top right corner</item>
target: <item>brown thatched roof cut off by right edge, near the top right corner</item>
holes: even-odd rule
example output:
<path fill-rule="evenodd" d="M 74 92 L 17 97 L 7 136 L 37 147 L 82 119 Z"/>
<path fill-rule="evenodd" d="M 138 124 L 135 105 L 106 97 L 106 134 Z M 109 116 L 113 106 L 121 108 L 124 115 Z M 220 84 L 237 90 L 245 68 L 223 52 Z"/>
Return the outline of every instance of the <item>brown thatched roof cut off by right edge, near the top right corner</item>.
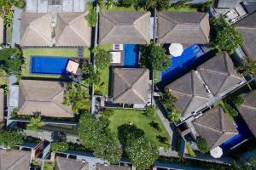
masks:
<path fill-rule="evenodd" d="M 242 49 L 251 59 L 256 60 L 256 12 L 236 22 L 234 26 L 245 39 Z"/>

